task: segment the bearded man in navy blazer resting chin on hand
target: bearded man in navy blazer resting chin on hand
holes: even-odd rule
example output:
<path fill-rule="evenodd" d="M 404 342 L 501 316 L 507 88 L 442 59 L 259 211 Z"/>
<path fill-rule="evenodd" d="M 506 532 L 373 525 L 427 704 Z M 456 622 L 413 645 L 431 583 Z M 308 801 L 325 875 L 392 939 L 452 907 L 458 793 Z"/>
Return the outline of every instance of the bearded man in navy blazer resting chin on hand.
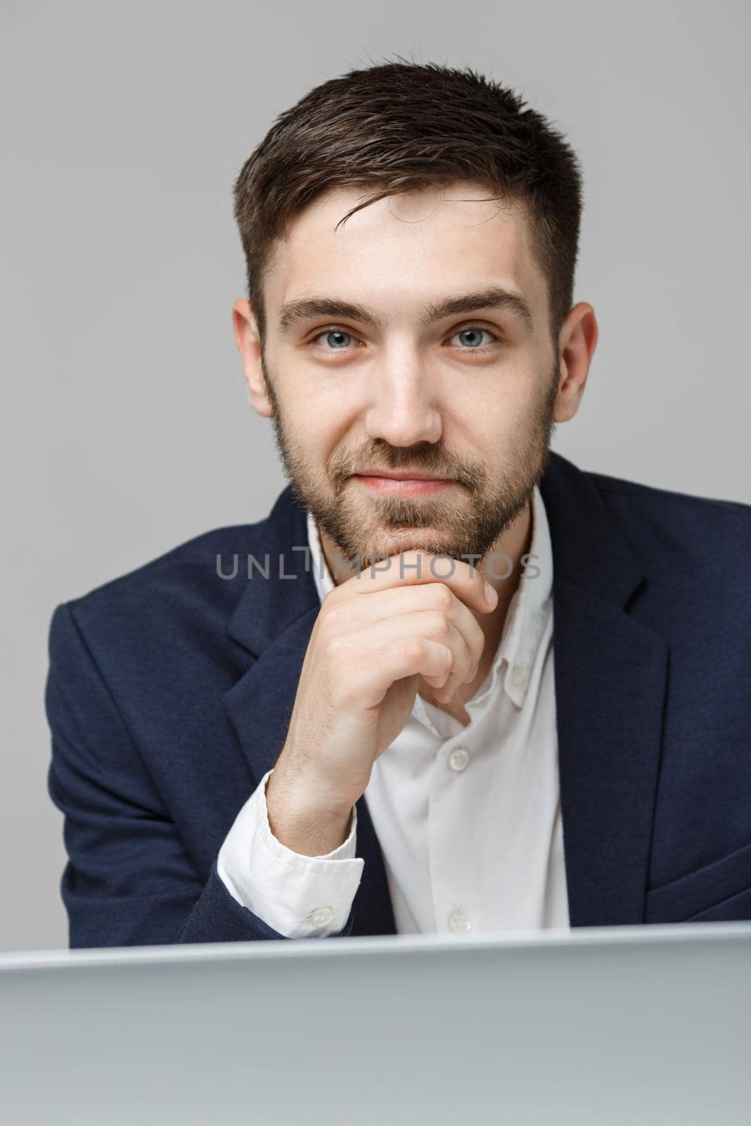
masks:
<path fill-rule="evenodd" d="M 72 946 L 751 919 L 751 509 L 551 452 L 598 330 L 522 106 L 378 65 L 241 170 L 290 483 L 55 610 Z"/>

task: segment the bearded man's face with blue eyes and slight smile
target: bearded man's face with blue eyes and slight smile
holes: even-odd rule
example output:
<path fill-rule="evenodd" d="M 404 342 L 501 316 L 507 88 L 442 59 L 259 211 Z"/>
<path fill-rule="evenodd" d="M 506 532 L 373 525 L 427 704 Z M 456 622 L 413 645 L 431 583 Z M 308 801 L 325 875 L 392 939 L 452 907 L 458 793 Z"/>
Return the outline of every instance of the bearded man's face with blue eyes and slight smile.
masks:
<path fill-rule="evenodd" d="M 547 287 L 525 213 L 488 195 L 456 185 L 388 197 L 334 234 L 363 198 L 338 189 L 277 244 L 268 410 L 297 498 L 343 560 L 418 549 L 482 566 L 545 472 L 558 386 Z M 521 298 L 529 320 L 518 301 L 494 306 L 491 289 Z M 302 301 L 311 307 L 284 315 Z M 375 468 L 444 481 L 358 476 Z"/>

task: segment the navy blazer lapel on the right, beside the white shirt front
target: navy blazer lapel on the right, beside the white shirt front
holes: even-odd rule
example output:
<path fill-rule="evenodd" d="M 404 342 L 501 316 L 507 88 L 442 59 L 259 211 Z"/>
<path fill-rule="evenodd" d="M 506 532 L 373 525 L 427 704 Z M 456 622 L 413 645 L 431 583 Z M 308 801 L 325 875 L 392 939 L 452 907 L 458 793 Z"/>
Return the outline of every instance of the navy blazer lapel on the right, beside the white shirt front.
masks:
<path fill-rule="evenodd" d="M 540 492 L 570 921 L 641 923 L 669 647 L 626 613 L 645 575 L 593 482 L 553 454 Z"/>

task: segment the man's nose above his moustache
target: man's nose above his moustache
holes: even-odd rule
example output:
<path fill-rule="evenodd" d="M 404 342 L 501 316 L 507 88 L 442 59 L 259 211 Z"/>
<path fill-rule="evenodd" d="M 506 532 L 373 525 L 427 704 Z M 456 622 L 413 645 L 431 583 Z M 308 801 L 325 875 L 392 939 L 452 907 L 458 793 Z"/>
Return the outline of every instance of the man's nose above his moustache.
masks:
<path fill-rule="evenodd" d="M 372 440 L 391 446 L 439 441 L 442 421 L 435 400 L 435 386 L 424 368 L 413 361 L 384 364 L 373 373 L 372 399 L 365 429 Z"/>

